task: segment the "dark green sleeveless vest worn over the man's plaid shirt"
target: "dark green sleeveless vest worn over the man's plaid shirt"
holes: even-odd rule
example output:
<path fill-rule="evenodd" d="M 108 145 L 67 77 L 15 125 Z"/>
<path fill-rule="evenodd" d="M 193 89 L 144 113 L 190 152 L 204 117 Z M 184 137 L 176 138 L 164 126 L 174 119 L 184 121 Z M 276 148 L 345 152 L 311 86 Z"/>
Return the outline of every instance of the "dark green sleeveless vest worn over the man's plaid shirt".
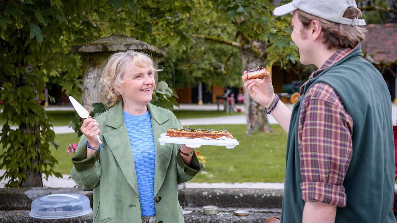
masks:
<path fill-rule="evenodd" d="M 310 79 L 293 107 L 281 222 L 302 222 L 305 202 L 301 197 L 299 114 L 306 92 L 320 82 L 335 89 L 353 119 L 353 155 L 343 181 L 347 205 L 337 208 L 335 223 L 395 223 L 391 210 L 395 177 L 391 98 L 382 75 L 362 58 L 361 48 Z"/>

